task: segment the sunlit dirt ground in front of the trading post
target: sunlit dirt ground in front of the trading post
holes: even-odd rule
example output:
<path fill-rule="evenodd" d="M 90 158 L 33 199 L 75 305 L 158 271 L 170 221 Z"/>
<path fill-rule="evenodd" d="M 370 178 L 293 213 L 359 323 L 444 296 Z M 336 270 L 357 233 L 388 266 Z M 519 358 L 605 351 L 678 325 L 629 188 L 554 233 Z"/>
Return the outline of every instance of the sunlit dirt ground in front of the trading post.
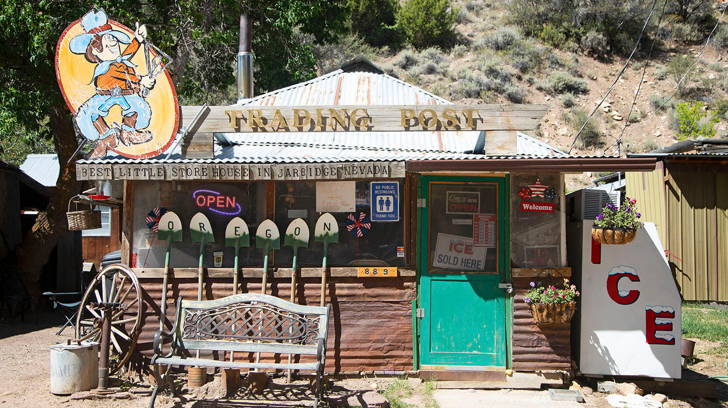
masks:
<path fill-rule="evenodd" d="M 66 329 L 63 335 L 57 336 L 55 332 L 60 328 L 60 315 L 52 311 L 38 313 L 38 324 L 31 324 L 28 321 L 15 322 L 15 324 L 0 323 L 0 407 L 68 407 L 68 408 L 131 408 L 146 407 L 149 404 L 149 391 L 151 386 L 146 381 L 143 383 L 137 380 L 124 383 L 130 387 L 130 393 L 126 399 L 100 399 L 100 400 L 77 400 L 70 396 L 55 396 L 50 393 L 50 348 L 55 343 L 60 343 L 71 336 L 71 329 Z M 705 351 L 715 347 L 710 342 L 698 342 L 696 356 L 700 360 L 693 364 L 692 368 L 702 372 L 696 375 L 724 375 L 725 361 L 713 361 L 710 353 Z M 219 375 L 208 377 L 211 381 L 206 385 L 187 389 L 183 378 L 178 379 L 177 384 L 181 393 L 170 397 L 160 395 L 157 398 L 155 407 L 179 408 L 179 407 L 311 407 L 312 393 L 309 391 L 307 380 L 298 380 L 293 385 L 283 384 L 282 378 L 274 379 L 266 389 L 263 396 L 256 396 L 242 388 L 234 396 L 226 399 Z M 213 380 L 214 378 L 214 380 Z M 334 407 L 347 406 L 349 403 L 356 405 L 366 391 L 384 390 L 393 382 L 392 378 L 352 378 L 336 380 L 331 385 L 329 401 Z M 400 407 L 424 407 L 418 393 L 425 388 L 418 385 L 419 381 L 411 380 L 411 396 L 405 399 L 405 404 Z M 112 385 L 119 385 L 115 380 Z M 696 408 L 728 408 L 728 385 L 719 385 L 720 400 L 708 400 L 697 398 L 681 398 L 678 400 L 678 407 Z M 453 392 L 453 391 L 448 391 Z M 519 391 L 521 393 L 543 393 L 544 391 Z M 437 396 L 438 390 L 435 390 Z M 462 390 L 463 395 L 472 393 L 472 390 Z M 483 393 L 487 396 L 488 393 Z M 230 401 L 230 399 L 235 400 Z M 721 401 L 722 400 L 722 401 Z M 489 404 L 496 407 L 498 404 Z M 606 394 L 593 393 L 586 397 L 585 407 L 607 408 Z M 432 405 L 428 405 L 432 408 Z"/>

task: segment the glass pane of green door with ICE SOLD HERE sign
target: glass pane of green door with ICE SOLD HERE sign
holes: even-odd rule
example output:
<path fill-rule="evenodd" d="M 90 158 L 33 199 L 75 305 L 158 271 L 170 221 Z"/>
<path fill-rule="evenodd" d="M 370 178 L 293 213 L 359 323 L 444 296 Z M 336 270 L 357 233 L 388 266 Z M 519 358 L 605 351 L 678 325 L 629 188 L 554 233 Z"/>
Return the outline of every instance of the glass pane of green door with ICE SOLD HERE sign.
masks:
<path fill-rule="evenodd" d="M 430 272 L 499 273 L 498 184 L 430 184 Z"/>

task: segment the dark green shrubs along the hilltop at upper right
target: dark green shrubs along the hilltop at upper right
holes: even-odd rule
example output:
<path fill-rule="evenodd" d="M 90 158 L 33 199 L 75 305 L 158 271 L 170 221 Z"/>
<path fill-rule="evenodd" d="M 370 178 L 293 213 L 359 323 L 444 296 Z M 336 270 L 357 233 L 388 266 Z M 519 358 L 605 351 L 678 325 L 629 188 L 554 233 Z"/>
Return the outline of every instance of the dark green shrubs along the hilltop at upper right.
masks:
<path fill-rule="evenodd" d="M 641 0 L 513 0 L 509 20 L 553 47 L 582 44 L 598 55 L 630 52 L 651 4 Z M 595 47 L 604 47 L 596 49 Z"/>

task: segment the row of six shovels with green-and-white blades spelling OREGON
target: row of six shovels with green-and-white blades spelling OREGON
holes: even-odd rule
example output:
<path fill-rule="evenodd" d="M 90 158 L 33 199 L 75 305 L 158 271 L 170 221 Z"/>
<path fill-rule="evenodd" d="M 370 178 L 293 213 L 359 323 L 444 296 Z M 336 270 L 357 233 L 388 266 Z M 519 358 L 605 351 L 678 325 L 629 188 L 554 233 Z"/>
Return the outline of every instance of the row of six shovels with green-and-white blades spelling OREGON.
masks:
<path fill-rule="evenodd" d="M 203 282 L 202 276 L 204 270 L 202 263 L 205 254 L 205 244 L 214 242 L 213 228 L 210 225 L 210 220 L 207 220 L 202 212 L 195 214 L 189 223 L 189 232 L 192 242 L 199 242 L 199 264 L 197 268 L 197 300 L 202 300 L 202 289 Z M 162 308 L 159 313 L 159 328 L 164 329 L 165 313 L 167 311 L 167 281 L 169 278 L 170 271 L 170 250 L 172 249 L 173 242 L 182 241 L 182 222 L 180 217 L 174 212 L 167 211 L 159 219 L 158 225 L 158 237 L 161 241 L 167 241 L 167 253 L 165 255 L 165 274 L 162 282 Z M 283 244 L 287 247 L 293 248 L 293 265 L 290 274 L 290 302 L 296 302 L 296 271 L 297 265 L 296 260 L 298 256 L 298 248 L 309 247 L 310 231 L 306 221 L 301 218 L 296 218 L 291 221 L 288 228 L 285 230 L 285 238 Z M 314 228 L 314 241 L 323 243 L 323 262 L 321 271 L 321 305 L 325 303 L 326 297 L 326 258 L 328 254 L 328 244 L 339 242 L 339 225 L 336 223 L 336 219 L 330 213 L 326 212 L 319 217 Z M 250 232 L 248 231 L 248 224 L 245 220 L 240 217 L 234 217 L 228 223 L 225 228 L 225 246 L 233 247 L 235 260 L 234 260 L 234 273 L 233 273 L 233 295 L 237 294 L 237 277 L 240 271 L 238 263 L 238 254 L 241 247 L 250 247 Z M 268 255 L 273 249 L 280 249 L 280 232 L 278 231 L 277 225 L 272 220 L 264 220 L 258 225 L 256 231 L 256 247 L 263 249 L 263 281 L 261 293 L 265 295 L 268 279 Z M 199 351 L 197 351 L 197 358 L 199 358 Z M 288 356 L 288 362 L 290 363 L 291 356 Z M 233 360 L 233 356 L 230 356 L 230 361 Z M 260 361 L 260 353 L 256 356 L 256 362 Z M 288 382 L 290 383 L 290 369 L 288 370 Z"/>

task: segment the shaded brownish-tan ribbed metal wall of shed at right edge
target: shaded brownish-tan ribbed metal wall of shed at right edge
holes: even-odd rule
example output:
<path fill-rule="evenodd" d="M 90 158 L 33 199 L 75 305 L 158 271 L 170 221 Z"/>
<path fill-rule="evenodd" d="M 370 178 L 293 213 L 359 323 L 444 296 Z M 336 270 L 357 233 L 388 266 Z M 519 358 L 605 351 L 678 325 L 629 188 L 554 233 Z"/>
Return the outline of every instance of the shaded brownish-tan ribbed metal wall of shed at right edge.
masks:
<path fill-rule="evenodd" d="M 728 173 L 673 165 L 668 260 L 685 300 L 728 300 Z"/>

